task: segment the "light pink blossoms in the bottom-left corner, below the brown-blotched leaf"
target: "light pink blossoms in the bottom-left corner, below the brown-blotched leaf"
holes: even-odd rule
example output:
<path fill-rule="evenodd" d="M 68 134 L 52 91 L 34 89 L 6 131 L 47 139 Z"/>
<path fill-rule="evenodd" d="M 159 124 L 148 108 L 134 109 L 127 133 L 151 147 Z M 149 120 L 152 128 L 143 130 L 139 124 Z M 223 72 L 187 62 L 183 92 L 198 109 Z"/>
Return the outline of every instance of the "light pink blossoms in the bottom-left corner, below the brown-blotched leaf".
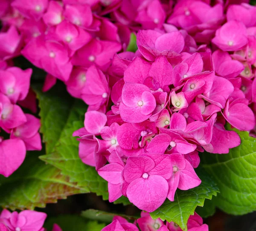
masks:
<path fill-rule="evenodd" d="M 43 228 L 47 214 L 31 210 L 24 210 L 20 213 L 10 212 L 6 209 L 0 214 L 0 231 L 46 231 Z M 62 231 L 54 224 L 52 231 Z"/>

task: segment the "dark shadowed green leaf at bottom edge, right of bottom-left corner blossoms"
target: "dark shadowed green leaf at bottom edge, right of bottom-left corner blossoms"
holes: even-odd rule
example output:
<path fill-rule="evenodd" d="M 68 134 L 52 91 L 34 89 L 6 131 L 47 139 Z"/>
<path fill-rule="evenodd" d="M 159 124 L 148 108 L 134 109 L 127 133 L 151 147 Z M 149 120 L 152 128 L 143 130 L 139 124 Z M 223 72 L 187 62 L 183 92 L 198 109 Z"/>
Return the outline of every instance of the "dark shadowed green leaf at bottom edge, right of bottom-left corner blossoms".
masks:
<path fill-rule="evenodd" d="M 61 215 L 50 217 L 45 223 L 45 228 L 51 231 L 53 224 L 58 224 L 62 231 L 101 231 L 106 225 L 96 221 L 87 221 L 77 215 Z"/>

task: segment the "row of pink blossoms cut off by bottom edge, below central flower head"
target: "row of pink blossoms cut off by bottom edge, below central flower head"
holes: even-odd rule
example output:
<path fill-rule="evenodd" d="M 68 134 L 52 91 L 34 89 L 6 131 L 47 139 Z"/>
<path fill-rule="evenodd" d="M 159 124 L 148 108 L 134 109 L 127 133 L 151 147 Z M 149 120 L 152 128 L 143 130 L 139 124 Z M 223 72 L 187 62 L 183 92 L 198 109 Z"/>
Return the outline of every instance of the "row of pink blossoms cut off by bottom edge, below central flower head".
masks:
<path fill-rule="evenodd" d="M 113 222 L 102 229 L 102 231 L 182 231 L 174 222 L 163 222 L 160 218 L 153 220 L 148 213 L 141 212 L 141 217 L 134 223 L 129 223 L 123 217 L 113 217 Z M 203 224 L 203 219 L 195 213 L 189 217 L 187 223 L 188 231 L 208 231 L 208 225 Z"/>

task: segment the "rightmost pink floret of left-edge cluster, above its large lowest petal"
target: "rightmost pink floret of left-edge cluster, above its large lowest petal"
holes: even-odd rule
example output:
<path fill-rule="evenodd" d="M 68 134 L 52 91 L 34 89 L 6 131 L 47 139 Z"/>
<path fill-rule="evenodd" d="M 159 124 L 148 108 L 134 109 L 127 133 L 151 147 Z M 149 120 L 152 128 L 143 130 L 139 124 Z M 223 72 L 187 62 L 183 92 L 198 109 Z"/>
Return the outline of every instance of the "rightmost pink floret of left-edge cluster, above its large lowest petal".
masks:
<path fill-rule="evenodd" d="M 26 150 L 41 150 L 41 137 L 38 130 L 41 126 L 40 120 L 30 114 L 25 114 L 26 123 L 15 127 L 11 132 L 11 139 L 22 139 L 26 145 Z"/>

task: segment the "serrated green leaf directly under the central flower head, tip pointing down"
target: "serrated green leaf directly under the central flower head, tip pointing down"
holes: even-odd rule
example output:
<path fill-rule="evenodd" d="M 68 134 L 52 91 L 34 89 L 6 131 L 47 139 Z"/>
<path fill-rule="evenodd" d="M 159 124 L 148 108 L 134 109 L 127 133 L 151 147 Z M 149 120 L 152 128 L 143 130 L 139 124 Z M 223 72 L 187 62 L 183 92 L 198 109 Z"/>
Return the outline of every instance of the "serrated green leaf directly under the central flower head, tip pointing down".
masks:
<path fill-rule="evenodd" d="M 212 178 L 202 169 L 197 169 L 197 174 L 202 180 L 201 184 L 190 190 L 177 190 L 173 202 L 166 199 L 163 205 L 150 215 L 153 219 L 160 217 L 168 222 L 175 222 L 182 230 L 187 230 L 189 216 L 194 214 L 197 206 L 203 206 L 205 199 L 216 196 L 218 187 Z"/>

